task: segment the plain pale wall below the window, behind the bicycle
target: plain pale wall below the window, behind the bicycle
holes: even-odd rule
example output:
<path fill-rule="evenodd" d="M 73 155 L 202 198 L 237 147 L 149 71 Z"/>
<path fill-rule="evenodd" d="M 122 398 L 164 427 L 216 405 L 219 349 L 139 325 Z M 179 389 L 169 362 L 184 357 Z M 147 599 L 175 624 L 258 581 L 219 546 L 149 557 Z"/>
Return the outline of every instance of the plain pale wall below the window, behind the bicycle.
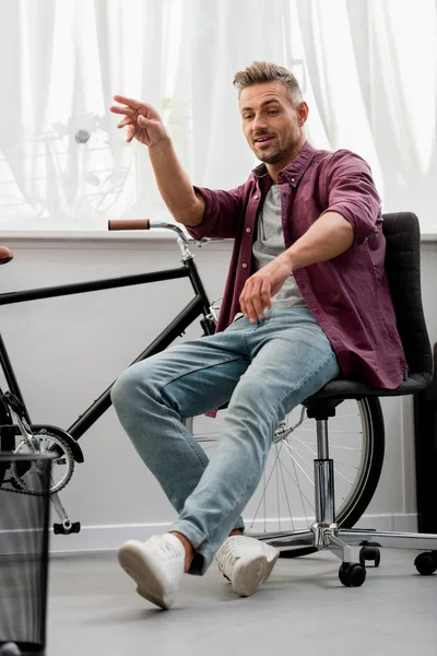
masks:
<path fill-rule="evenodd" d="M 173 239 L 71 237 L 2 239 L 14 260 L 0 269 L 0 291 L 62 284 L 178 266 Z M 211 297 L 221 294 L 232 245 L 194 255 Z M 437 246 L 423 244 L 423 297 L 437 341 L 434 280 Z M 67 429 L 130 364 L 190 298 L 186 280 L 1 307 L 1 332 L 32 420 Z M 197 336 L 190 329 L 187 337 Z M 362 525 L 415 529 L 414 435 L 411 399 L 383 401 L 387 457 L 380 487 Z M 199 424 L 198 424 L 199 425 Z M 203 424 L 202 424 L 203 425 Z M 199 430 L 199 429 L 198 429 Z M 216 430 L 215 427 L 213 429 Z M 115 548 L 145 538 L 175 512 L 137 456 L 110 409 L 80 441 L 85 462 L 61 492 L 76 536 L 52 538 L 52 549 Z M 54 520 L 57 517 L 54 514 Z"/>

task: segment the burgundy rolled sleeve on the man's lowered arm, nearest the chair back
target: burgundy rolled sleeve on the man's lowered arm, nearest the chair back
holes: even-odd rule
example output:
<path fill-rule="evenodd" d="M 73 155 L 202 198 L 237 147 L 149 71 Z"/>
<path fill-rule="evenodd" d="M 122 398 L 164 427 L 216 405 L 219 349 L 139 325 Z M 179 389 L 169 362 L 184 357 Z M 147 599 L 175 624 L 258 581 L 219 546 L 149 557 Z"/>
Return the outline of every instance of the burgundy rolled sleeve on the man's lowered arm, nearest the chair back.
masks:
<path fill-rule="evenodd" d="M 370 167 L 359 155 L 336 151 L 330 160 L 326 178 L 329 207 L 321 213 L 338 212 L 354 229 L 354 246 L 371 239 L 382 222 L 381 200 Z"/>

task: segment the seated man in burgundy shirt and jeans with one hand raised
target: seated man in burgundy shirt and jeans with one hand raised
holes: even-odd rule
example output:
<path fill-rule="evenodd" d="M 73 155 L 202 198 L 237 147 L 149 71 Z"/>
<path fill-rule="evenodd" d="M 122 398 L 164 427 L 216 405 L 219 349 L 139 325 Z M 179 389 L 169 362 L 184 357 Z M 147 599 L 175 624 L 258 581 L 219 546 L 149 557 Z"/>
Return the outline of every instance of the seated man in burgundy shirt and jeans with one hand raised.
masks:
<path fill-rule="evenodd" d="M 150 105 L 115 96 L 122 106 L 111 107 L 127 140 L 149 147 L 175 220 L 196 237 L 235 239 L 217 332 L 131 366 L 113 389 L 121 424 L 179 514 L 169 532 L 119 550 L 138 593 L 161 608 L 184 573 L 204 574 L 214 555 L 236 593 L 258 589 L 279 552 L 243 535 L 240 513 L 277 422 L 340 373 L 395 388 L 406 370 L 368 165 L 308 143 L 308 106 L 286 69 L 253 62 L 234 84 L 263 164 L 231 191 L 192 187 Z M 209 464 L 181 420 L 227 401 Z"/>

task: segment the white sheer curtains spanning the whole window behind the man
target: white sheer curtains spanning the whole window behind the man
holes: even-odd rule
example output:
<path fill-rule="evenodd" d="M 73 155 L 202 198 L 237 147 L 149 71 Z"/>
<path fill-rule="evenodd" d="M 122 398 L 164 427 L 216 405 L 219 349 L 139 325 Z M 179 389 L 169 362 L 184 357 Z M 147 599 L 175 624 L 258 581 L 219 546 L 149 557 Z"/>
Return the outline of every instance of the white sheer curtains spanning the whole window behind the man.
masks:
<path fill-rule="evenodd" d="M 0 229 L 168 219 L 115 93 L 162 113 L 193 183 L 239 184 L 256 162 L 232 80 L 269 60 L 297 75 L 310 142 L 359 153 L 385 210 L 437 234 L 436 44 L 435 0 L 0 0 Z"/>

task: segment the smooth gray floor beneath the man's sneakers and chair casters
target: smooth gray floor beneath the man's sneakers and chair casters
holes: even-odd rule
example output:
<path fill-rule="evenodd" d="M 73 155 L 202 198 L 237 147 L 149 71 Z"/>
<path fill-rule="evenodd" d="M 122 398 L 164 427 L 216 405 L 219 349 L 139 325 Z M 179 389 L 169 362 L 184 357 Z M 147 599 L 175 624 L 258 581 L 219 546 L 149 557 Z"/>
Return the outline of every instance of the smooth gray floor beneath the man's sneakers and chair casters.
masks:
<path fill-rule="evenodd" d="M 47 656 L 436 656 L 437 575 L 418 575 L 414 557 L 385 550 L 361 588 L 341 585 L 330 554 L 280 559 L 249 598 L 214 564 L 204 577 L 185 577 L 169 611 L 134 593 L 115 552 L 55 557 Z"/>

